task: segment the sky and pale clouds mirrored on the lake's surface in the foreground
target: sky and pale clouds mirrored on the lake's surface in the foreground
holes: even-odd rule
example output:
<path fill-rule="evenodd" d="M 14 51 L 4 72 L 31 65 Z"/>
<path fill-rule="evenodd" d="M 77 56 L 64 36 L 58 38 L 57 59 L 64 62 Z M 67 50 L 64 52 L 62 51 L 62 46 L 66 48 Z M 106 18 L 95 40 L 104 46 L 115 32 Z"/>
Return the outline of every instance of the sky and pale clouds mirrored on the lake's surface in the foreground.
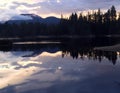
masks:
<path fill-rule="evenodd" d="M 10 93 L 34 93 L 35 91 L 36 93 L 59 93 L 58 91 L 63 93 L 75 93 L 76 91 L 78 91 L 76 93 L 81 91 L 89 93 L 88 91 L 91 91 L 90 89 L 93 87 L 96 88 L 95 91 L 98 91 L 99 88 L 105 86 L 107 86 L 106 89 L 118 90 L 114 82 L 119 81 L 120 65 L 108 64 L 106 59 L 103 60 L 103 63 L 98 64 L 99 61 L 97 63 L 97 60 L 89 60 L 87 57 L 84 60 L 72 59 L 70 56 L 62 58 L 61 51 L 56 53 L 43 52 L 36 57 L 21 57 L 23 56 L 22 53 L 19 52 L 17 56 L 16 53 L 0 52 L 2 55 L 0 61 L 0 92 L 2 91 L 2 93 L 8 93 L 9 90 L 3 91 L 9 89 L 10 86 L 14 88 L 14 92 Z M 3 65 L 8 67 L 2 67 Z M 110 84 L 112 86 L 109 86 Z M 66 90 L 63 90 L 64 88 Z"/>

